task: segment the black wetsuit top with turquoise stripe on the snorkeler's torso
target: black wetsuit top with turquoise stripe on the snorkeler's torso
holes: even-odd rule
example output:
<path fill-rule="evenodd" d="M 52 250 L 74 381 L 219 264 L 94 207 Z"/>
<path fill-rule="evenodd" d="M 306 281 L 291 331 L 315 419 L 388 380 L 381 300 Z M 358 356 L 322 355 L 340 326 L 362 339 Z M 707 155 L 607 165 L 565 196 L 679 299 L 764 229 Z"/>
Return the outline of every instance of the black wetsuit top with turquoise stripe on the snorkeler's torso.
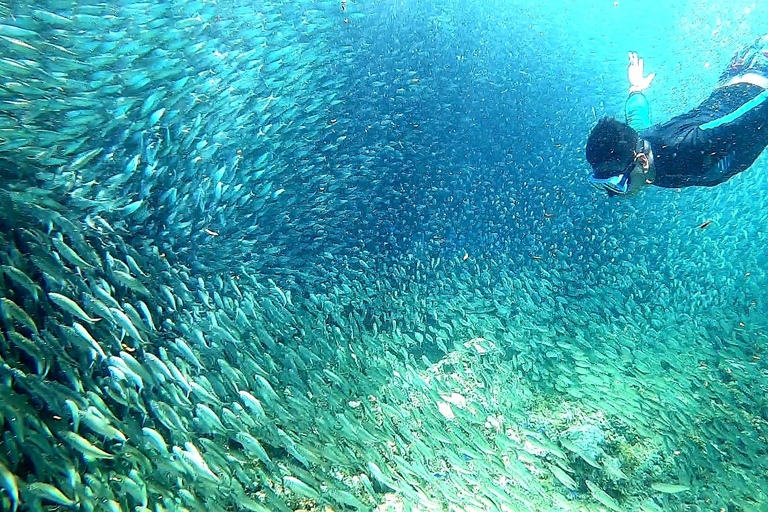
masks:
<path fill-rule="evenodd" d="M 768 145 L 768 91 L 745 83 L 720 87 L 695 109 L 640 136 L 653 150 L 654 185 L 718 185 L 748 169 Z"/>

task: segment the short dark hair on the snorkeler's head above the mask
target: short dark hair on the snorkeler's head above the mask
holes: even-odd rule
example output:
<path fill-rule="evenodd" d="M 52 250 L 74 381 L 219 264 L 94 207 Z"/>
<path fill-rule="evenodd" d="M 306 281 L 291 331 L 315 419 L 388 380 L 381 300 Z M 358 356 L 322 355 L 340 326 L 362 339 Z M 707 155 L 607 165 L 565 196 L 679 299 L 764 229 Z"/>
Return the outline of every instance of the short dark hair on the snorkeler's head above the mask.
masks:
<path fill-rule="evenodd" d="M 607 164 L 613 164 L 611 167 L 614 168 L 624 168 L 635 157 L 639 139 L 640 135 L 628 124 L 604 117 L 592 128 L 587 139 L 587 162 L 595 171 Z"/>

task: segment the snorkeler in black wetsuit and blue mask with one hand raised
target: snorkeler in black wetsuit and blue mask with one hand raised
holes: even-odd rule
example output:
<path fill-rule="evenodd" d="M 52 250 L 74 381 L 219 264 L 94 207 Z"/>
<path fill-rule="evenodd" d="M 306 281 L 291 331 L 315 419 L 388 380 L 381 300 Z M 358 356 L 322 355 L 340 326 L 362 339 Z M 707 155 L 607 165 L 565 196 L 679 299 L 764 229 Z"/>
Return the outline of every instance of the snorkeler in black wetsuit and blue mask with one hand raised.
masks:
<path fill-rule="evenodd" d="M 590 182 L 609 196 L 646 185 L 723 183 L 748 169 L 768 145 L 768 35 L 734 55 L 717 88 L 690 112 L 651 126 L 643 59 L 629 54 L 626 122 L 605 117 L 587 140 Z"/>

